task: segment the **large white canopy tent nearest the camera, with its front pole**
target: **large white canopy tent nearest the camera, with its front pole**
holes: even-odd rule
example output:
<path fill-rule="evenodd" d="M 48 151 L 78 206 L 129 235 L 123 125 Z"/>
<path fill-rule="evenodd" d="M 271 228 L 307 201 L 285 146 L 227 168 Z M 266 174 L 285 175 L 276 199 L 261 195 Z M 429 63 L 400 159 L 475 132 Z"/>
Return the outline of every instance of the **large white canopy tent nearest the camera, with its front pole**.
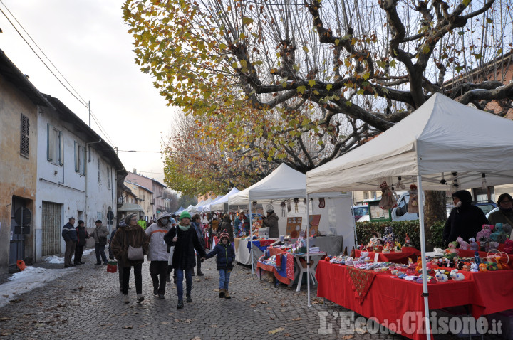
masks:
<path fill-rule="evenodd" d="M 415 182 L 419 192 L 511 183 L 512 132 L 513 122 L 508 119 L 435 94 L 380 136 L 307 172 L 306 191 L 376 190 L 383 179 L 395 184 L 398 176 L 404 184 Z M 423 277 L 427 277 L 423 195 L 419 198 Z M 430 339 L 425 281 L 423 292 Z"/>

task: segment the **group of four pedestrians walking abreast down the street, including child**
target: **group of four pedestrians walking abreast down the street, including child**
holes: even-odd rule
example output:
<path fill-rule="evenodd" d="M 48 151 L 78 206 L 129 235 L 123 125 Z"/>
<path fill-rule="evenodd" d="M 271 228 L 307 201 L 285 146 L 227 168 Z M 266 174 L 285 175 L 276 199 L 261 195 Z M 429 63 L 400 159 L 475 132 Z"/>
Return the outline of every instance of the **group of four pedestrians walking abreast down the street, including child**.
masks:
<path fill-rule="evenodd" d="M 201 262 L 217 255 L 219 270 L 219 297 L 229 299 L 229 273 L 233 269 L 234 248 L 229 242 L 229 235 L 222 235 L 222 248 L 218 245 L 210 253 L 205 252 L 205 243 L 200 225 L 201 217 L 182 211 L 180 222 L 176 222 L 170 213 L 163 213 L 156 223 L 145 230 L 138 225 L 135 214 L 128 215 L 122 221 L 110 242 L 113 257 L 118 260 L 120 270 L 120 290 L 125 303 L 130 302 L 128 282 L 130 271 L 134 269 L 135 292 L 137 303 L 145 297 L 142 295 L 142 263 L 144 255 L 150 261 L 150 277 L 153 294 L 159 299 L 165 298 L 166 283 L 170 282 L 170 272 L 174 270 L 177 287 L 177 309 L 184 307 L 183 281 L 185 278 L 185 301 L 192 302 L 192 276 L 194 267 L 197 275 L 202 276 Z M 171 270 L 170 270 L 171 269 Z"/>

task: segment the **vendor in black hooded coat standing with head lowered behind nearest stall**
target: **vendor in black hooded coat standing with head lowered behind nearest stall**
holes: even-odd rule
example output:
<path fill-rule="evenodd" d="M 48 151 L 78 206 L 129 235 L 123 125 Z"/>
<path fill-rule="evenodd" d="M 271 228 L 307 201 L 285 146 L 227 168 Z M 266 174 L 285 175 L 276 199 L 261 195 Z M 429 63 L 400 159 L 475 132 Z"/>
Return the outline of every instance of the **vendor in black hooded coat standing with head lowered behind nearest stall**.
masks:
<path fill-rule="evenodd" d="M 456 191 L 452 194 L 454 208 L 445 221 L 443 230 L 443 244 L 445 247 L 456 240 L 457 237 L 468 240 L 475 238 L 483 224 L 489 224 L 483 211 L 472 206 L 472 195 L 466 190 Z"/>

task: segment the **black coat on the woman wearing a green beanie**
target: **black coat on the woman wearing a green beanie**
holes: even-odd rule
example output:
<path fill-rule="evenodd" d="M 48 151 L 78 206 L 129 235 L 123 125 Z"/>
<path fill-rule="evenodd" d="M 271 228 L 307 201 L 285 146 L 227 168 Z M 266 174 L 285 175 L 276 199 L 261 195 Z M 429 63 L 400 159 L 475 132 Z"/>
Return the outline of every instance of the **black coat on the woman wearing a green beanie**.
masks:
<path fill-rule="evenodd" d="M 172 239 L 177 236 L 175 252 L 173 253 L 172 258 L 172 267 L 185 270 L 196 266 L 195 250 L 200 257 L 205 257 L 207 254 L 201 244 L 199 244 L 196 230 L 192 224 L 190 224 L 189 229 L 184 231 L 180 229 L 180 223 L 177 228 L 171 228 L 171 230 L 164 236 L 164 240 L 165 243 L 171 244 Z"/>

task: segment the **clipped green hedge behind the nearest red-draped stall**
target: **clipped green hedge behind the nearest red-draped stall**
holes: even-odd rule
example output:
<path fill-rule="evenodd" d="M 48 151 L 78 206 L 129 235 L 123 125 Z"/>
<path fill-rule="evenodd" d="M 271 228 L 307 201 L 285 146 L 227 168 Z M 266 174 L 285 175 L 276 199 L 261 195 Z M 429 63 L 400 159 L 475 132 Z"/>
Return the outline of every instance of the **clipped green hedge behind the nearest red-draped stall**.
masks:
<path fill-rule="evenodd" d="M 430 238 L 427 239 L 427 243 L 430 243 L 434 247 L 443 248 L 442 234 L 445 221 L 440 221 L 433 224 L 430 227 Z M 391 226 L 394 231 L 395 240 L 401 245 L 405 243 L 406 234 L 410 237 L 411 244 L 413 247 L 420 249 L 420 227 L 419 221 L 391 221 L 391 222 L 357 222 L 356 223 L 356 236 L 358 238 L 358 244 L 366 245 L 372 238 L 372 233 L 377 231 L 383 236 L 385 233 L 385 227 Z"/>

